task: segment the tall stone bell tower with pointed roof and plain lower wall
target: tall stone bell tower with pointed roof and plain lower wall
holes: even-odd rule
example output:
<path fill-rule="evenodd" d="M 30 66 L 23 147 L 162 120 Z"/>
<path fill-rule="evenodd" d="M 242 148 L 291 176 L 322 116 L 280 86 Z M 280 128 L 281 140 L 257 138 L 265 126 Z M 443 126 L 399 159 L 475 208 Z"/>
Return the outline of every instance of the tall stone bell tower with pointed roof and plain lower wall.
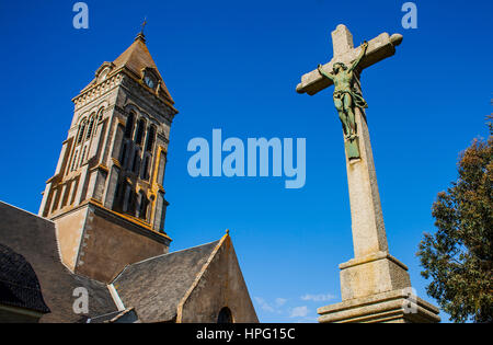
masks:
<path fill-rule="evenodd" d="M 177 111 L 144 33 L 72 102 L 39 216 L 55 221 L 70 269 L 110 281 L 125 265 L 168 252 L 163 179 Z"/>

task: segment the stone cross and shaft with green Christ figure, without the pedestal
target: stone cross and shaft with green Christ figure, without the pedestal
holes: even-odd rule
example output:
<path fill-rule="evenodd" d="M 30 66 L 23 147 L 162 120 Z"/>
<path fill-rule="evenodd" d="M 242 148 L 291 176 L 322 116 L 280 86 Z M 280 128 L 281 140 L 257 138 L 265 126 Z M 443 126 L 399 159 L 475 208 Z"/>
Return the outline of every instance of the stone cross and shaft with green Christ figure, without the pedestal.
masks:
<path fill-rule="evenodd" d="M 359 73 L 394 55 L 402 35 L 383 33 L 354 48 L 353 35 L 341 24 L 332 32 L 332 60 L 302 76 L 296 90 L 313 95 L 334 84 L 333 99 L 343 124 L 346 149 L 355 257 L 362 257 L 387 252 L 388 246 Z"/>

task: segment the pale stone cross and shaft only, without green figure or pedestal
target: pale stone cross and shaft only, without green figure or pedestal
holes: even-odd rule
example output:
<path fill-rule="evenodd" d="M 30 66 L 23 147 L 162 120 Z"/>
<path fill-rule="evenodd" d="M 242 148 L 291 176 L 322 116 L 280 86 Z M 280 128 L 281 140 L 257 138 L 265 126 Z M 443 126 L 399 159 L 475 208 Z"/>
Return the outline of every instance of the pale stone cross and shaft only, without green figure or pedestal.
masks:
<path fill-rule="evenodd" d="M 351 65 L 360 53 L 360 47 L 354 48 L 353 35 L 345 25 L 339 25 L 332 32 L 334 57 L 323 66 L 323 70 L 332 71 L 335 62 Z M 359 64 L 364 69 L 395 54 L 395 46 L 402 42 L 402 35 L 383 33 L 368 42 L 368 49 Z M 330 87 L 332 81 L 323 78 L 318 70 L 301 77 L 298 93 L 313 95 Z M 366 115 L 355 107 L 356 125 L 359 137 L 360 159 L 352 161 L 347 158 L 347 180 L 349 185 L 351 215 L 353 227 L 353 243 L 355 257 L 364 257 L 371 253 L 388 252 L 383 217 L 378 193 L 377 175 L 374 156 L 369 140 Z M 335 118 L 335 111 L 334 111 Z"/>

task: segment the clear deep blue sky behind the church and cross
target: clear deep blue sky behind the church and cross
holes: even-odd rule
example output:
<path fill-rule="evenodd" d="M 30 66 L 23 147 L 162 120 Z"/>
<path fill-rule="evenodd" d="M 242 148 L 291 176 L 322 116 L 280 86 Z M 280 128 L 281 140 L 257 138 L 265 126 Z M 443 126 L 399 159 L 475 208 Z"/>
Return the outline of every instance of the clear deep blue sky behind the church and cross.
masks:
<path fill-rule="evenodd" d="M 108 1 L 89 4 L 89 30 L 72 27 L 76 1 L 1 1 L 0 199 L 37 212 L 69 128 L 70 100 L 114 60 L 148 18 L 146 35 L 180 114 L 164 179 L 165 230 L 181 250 L 231 229 L 263 322 L 312 322 L 340 301 L 339 264 L 353 257 L 341 125 L 331 93 L 299 95 L 301 74 L 332 57 L 330 33 L 355 44 L 401 33 L 398 54 L 362 79 L 391 254 L 426 296 L 415 257 L 433 231 L 436 194 L 456 179 L 458 152 L 486 136 L 493 48 L 491 1 Z M 307 183 L 192 179 L 188 141 L 222 136 L 307 138 Z M 444 321 L 448 320 L 442 314 Z"/>

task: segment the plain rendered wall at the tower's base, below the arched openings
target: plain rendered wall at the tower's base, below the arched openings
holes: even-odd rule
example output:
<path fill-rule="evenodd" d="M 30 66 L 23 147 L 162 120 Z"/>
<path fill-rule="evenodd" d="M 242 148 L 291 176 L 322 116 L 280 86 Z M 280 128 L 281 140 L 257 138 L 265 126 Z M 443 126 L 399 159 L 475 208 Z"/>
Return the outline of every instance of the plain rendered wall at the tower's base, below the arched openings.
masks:
<path fill-rule="evenodd" d="M 73 272 L 110 283 L 126 265 L 168 253 L 171 239 L 137 219 L 91 203 L 54 219 L 64 263 Z"/>

